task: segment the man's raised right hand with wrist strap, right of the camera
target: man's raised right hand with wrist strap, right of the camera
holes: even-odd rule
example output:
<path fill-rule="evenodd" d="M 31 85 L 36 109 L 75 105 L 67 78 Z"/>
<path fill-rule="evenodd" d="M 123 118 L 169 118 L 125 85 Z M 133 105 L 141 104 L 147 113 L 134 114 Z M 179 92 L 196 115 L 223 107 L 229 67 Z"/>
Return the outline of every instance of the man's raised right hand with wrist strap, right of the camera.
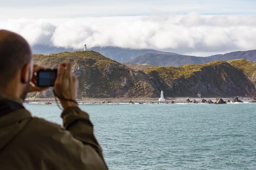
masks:
<path fill-rule="evenodd" d="M 78 79 L 72 72 L 72 64 L 70 62 L 63 62 L 60 64 L 57 78 L 54 83 L 55 93 L 65 99 L 76 101 L 78 88 Z M 71 106 L 78 106 L 75 102 L 60 99 L 63 109 L 65 110 Z"/>

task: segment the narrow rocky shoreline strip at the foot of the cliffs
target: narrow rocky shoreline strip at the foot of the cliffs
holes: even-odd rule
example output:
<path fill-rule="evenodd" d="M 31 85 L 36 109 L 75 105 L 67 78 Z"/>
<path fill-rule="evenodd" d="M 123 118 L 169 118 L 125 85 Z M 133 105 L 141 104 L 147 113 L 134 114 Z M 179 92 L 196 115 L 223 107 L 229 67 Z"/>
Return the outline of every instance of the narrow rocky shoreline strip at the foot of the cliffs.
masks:
<path fill-rule="evenodd" d="M 216 97 L 217 98 L 217 97 Z M 198 103 L 201 103 L 201 99 L 210 99 L 212 100 L 213 102 L 215 102 L 216 98 L 193 98 L 193 97 L 177 97 L 177 98 L 166 98 L 165 99 L 165 102 L 161 102 L 159 101 L 158 99 L 159 98 L 145 98 L 145 99 L 135 99 L 135 98 L 130 98 L 130 99 L 117 99 L 117 98 L 106 98 L 106 99 L 102 99 L 102 98 L 99 98 L 99 99 L 77 99 L 77 102 L 79 104 L 104 104 L 104 103 L 129 103 L 130 101 L 135 104 L 143 104 L 143 103 L 171 103 L 171 101 L 173 101 L 174 103 L 185 103 L 185 101 L 187 99 L 190 99 L 190 100 L 196 100 Z M 224 101 L 228 101 L 230 100 L 232 102 L 232 99 L 231 97 L 229 98 L 222 98 Z M 252 100 L 253 98 L 250 98 L 250 97 L 242 97 L 242 98 L 239 98 L 240 100 Z M 58 103 L 59 103 L 59 100 L 57 100 Z M 25 99 L 24 100 L 24 103 L 47 103 L 49 102 L 49 104 L 56 104 L 55 102 L 55 99 L 54 98 L 36 98 L 36 99 Z"/>

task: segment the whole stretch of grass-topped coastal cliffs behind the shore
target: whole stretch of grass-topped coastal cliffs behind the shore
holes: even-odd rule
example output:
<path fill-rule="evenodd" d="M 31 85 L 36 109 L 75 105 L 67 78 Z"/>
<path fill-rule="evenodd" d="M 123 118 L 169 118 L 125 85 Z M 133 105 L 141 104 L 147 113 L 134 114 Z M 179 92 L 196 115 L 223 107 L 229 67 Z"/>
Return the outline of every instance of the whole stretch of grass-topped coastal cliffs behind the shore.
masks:
<path fill-rule="evenodd" d="M 47 68 L 73 63 L 79 80 L 79 98 L 196 96 L 255 96 L 256 66 L 247 60 L 215 61 L 201 65 L 151 67 L 133 70 L 95 51 L 35 54 L 34 61 Z M 53 97 L 51 90 L 30 97 Z"/>

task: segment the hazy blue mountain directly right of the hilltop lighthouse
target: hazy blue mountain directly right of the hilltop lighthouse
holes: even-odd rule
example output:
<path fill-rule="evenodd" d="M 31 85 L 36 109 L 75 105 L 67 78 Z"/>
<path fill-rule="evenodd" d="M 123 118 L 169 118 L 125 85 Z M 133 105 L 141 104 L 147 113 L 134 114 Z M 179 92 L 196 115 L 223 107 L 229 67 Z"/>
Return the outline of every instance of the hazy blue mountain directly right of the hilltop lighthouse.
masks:
<path fill-rule="evenodd" d="M 112 60 L 115 60 L 121 63 L 128 62 L 131 59 L 134 59 L 146 53 L 178 55 L 176 53 L 169 53 L 169 52 L 157 51 L 152 49 L 131 49 L 131 48 L 120 48 L 117 46 L 95 46 L 90 48 L 89 50 L 97 51 L 98 53 L 101 53 L 105 57 L 108 57 Z"/>

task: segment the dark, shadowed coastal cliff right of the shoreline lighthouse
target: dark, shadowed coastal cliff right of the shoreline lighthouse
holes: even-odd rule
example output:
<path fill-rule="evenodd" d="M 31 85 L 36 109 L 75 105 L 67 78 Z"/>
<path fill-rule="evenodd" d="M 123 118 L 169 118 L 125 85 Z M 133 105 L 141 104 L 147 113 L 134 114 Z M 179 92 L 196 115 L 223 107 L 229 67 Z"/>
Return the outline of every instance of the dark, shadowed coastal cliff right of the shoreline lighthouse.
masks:
<path fill-rule="evenodd" d="M 186 97 L 198 93 L 205 97 L 255 95 L 253 82 L 242 70 L 225 61 L 180 67 L 152 67 L 144 71 L 157 80 L 165 96 Z"/>

